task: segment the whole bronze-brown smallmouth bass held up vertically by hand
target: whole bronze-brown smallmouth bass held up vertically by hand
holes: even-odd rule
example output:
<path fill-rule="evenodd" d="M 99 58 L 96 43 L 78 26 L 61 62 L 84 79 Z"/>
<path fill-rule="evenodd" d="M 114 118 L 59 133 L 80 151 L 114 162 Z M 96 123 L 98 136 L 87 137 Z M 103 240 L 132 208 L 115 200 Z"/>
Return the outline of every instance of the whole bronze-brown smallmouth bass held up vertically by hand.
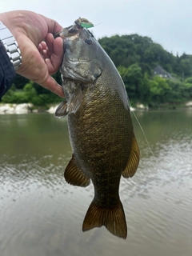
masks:
<path fill-rule="evenodd" d="M 86 27 L 63 29 L 60 68 L 65 99 L 54 116 L 67 116 L 72 157 L 64 171 L 73 186 L 94 186 L 82 231 L 106 226 L 126 239 L 126 215 L 119 197 L 121 177 L 133 177 L 140 153 L 126 88 L 118 70 Z"/>

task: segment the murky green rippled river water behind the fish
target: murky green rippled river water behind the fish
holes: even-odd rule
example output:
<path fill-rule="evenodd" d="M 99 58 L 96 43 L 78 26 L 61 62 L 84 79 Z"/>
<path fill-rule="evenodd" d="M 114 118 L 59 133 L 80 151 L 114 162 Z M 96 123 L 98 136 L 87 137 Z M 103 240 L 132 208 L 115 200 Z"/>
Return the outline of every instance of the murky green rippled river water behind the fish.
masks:
<path fill-rule="evenodd" d="M 121 180 L 126 240 L 104 226 L 82 232 L 93 186 L 70 186 L 66 118 L 1 115 L 1 256 L 191 256 L 192 109 L 136 112 L 141 162 Z"/>

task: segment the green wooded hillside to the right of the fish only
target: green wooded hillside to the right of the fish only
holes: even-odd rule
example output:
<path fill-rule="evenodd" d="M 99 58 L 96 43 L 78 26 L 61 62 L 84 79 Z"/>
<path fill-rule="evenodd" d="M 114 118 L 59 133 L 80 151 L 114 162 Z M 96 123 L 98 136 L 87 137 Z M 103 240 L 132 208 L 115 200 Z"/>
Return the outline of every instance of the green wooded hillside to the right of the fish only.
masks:
<path fill-rule="evenodd" d="M 175 104 L 192 97 L 191 55 L 174 56 L 151 38 L 138 34 L 115 35 L 99 39 L 99 42 L 118 67 L 131 102 Z M 158 65 L 174 79 L 154 76 L 154 67 Z"/>

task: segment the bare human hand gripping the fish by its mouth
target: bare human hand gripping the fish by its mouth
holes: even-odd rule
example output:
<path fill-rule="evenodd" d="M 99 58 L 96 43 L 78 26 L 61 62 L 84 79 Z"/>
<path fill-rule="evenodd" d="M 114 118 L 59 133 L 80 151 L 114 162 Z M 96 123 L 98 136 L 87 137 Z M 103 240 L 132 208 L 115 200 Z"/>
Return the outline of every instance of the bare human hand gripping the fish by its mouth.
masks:
<path fill-rule="evenodd" d="M 22 65 L 17 73 L 64 97 L 62 86 L 50 76 L 62 63 L 63 40 L 53 36 L 62 30 L 62 26 L 26 10 L 0 14 L 0 20 L 14 35 L 21 50 Z"/>

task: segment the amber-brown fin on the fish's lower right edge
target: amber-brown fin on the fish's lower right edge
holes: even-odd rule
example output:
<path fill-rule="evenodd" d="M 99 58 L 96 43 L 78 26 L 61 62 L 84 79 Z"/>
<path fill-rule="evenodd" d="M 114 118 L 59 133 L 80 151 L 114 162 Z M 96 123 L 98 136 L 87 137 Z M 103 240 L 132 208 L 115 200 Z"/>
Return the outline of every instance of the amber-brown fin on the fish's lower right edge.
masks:
<path fill-rule="evenodd" d="M 130 150 L 130 158 L 127 162 L 126 169 L 123 170 L 122 176 L 124 178 L 130 178 L 134 176 L 136 170 L 138 169 L 138 163 L 140 159 L 140 153 L 138 148 L 138 142 L 134 137 L 132 140 L 131 150 Z"/>

